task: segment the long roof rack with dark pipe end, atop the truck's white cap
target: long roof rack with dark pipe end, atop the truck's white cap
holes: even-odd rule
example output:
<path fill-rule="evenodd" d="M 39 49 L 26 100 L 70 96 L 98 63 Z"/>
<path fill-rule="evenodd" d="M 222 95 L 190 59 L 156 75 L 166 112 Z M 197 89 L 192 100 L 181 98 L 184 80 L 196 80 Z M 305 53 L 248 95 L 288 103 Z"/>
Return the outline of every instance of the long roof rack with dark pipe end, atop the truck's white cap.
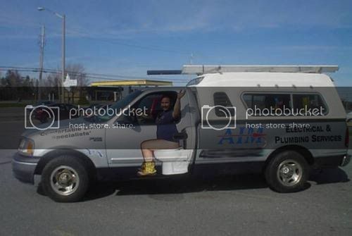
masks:
<path fill-rule="evenodd" d="M 225 72 L 281 72 L 281 73 L 332 73 L 339 70 L 336 65 L 311 66 L 242 66 L 242 65 L 184 65 L 182 70 L 148 70 L 147 75 L 203 75 Z"/>

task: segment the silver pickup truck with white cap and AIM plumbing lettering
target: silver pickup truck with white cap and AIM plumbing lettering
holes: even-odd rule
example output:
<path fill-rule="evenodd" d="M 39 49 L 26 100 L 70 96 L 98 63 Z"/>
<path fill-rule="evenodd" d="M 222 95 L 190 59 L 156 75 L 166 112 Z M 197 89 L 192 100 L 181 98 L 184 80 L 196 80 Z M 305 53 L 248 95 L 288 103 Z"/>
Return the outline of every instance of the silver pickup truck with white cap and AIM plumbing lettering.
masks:
<path fill-rule="evenodd" d="M 66 202 L 82 199 L 96 180 L 137 178 L 141 144 L 156 139 L 161 99 L 174 103 L 184 90 L 174 122 L 179 145 L 153 149 L 157 173 L 148 178 L 263 173 L 272 190 L 303 190 L 311 169 L 346 166 L 351 159 L 346 112 L 332 79 L 323 74 L 334 70 L 184 66 L 181 73 L 198 75 L 187 87 L 136 89 L 109 107 L 118 113 L 26 130 L 13 173 Z"/>

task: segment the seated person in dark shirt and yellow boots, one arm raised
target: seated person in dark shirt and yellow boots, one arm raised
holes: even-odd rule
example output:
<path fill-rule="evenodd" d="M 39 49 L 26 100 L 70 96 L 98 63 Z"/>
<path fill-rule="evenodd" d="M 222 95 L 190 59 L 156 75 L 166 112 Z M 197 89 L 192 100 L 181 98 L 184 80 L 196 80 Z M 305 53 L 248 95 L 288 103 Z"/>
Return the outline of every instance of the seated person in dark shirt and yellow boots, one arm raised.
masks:
<path fill-rule="evenodd" d="M 175 141 L 174 135 L 177 133 L 175 121 L 180 119 L 180 99 L 184 97 L 185 91 L 177 94 L 175 106 L 172 110 L 171 99 L 168 96 L 161 98 L 161 108 L 163 111 L 156 116 L 156 139 L 149 139 L 141 144 L 143 163 L 139 168 L 138 175 L 155 175 L 154 151 L 157 149 L 176 149 L 180 144 Z"/>

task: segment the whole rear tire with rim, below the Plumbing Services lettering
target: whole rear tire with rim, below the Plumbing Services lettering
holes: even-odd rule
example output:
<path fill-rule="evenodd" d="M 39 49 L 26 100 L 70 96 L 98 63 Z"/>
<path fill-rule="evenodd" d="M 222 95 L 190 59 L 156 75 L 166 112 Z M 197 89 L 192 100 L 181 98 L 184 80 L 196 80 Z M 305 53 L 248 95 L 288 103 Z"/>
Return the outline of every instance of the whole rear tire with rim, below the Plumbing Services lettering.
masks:
<path fill-rule="evenodd" d="M 296 151 L 282 151 L 265 168 L 265 179 L 276 192 L 298 192 L 305 188 L 309 166 Z"/>

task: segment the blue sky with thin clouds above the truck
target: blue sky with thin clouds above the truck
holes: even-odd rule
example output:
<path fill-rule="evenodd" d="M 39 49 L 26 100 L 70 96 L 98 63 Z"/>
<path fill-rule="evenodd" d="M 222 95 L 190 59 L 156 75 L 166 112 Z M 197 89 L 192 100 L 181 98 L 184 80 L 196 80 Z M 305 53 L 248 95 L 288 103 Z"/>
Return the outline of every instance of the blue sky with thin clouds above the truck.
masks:
<path fill-rule="evenodd" d="M 44 23 L 44 68 L 61 67 L 61 19 L 37 11 L 44 6 L 65 13 L 66 61 L 88 73 L 147 77 L 190 62 L 337 64 L 337 85 L 352 86 L 352 1 L 0 2 L 0 66 L 39 67 Z"/>

